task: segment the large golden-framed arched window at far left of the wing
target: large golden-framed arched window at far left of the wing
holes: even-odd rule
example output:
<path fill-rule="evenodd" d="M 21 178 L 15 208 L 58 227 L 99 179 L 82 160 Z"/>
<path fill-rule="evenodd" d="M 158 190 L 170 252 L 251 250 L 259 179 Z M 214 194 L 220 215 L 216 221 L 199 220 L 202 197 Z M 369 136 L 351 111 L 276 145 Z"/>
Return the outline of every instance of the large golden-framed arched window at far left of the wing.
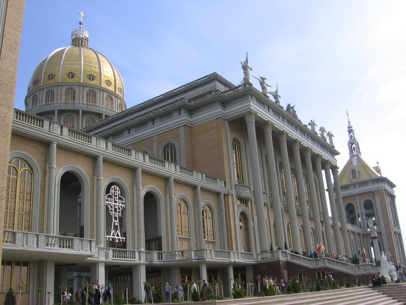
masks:
<path fill-rule="evenodd" d="M 6 230 L 30 231 L 33 179 L 32 170 L 24 160 L 10 160 L 4 215 Z"/>

